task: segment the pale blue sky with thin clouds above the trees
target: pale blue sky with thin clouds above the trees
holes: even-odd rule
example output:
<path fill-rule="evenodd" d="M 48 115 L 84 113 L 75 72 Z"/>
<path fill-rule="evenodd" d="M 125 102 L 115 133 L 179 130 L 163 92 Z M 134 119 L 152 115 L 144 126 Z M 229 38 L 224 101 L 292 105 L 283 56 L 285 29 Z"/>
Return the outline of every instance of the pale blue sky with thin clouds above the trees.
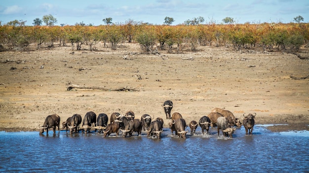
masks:
<path fill-rule="evenodd" d="M 203 24 L 222 23 L 231 17 L 238 24 L 246 22 L 294 22 L 302 16 L 309 23 L 309 0 L 0 0 L 1 25 L 13 20 L 42 19 L 51 14 L 55 25 L 104 25 L 105 18 L 113 23 L 136 22 L 162 25 L 165 17 L 174 19 L 172 25 L 183 24 L 199 16 Z"/>

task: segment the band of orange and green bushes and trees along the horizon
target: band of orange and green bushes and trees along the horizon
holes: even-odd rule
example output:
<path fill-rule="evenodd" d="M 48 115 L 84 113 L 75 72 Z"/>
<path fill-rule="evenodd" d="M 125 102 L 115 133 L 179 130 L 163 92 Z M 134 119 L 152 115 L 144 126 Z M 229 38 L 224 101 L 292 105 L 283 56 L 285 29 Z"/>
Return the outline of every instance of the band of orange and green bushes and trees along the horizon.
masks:
<path fill-rule="evenodd" d="M 299 51 L 308 45 L 308 23 L 261 23 L 236 24 L 225 18 L 225 24 L 202 24 L 203 18 L 193 18 L 187 23 L 171 26 L 173 18 L 166 17 L 166 25 L 128 20 L 114 24 L 112 18 L 103 19 L 106 25 L 53 26 L 56 19 L 49 16 L 46 26 L 25 26 L 25 21 L 15 20 L 10 25 L 0 26 L 0 44 L 7 50 L 23 50 L 29 44 L 53 47 L 71 45 L 73 50 L 97 50 L 97 43 L 116 50 L 124 42 L 139 43 L 141 50 L 167 50 L 181 53 L 184 49 L 195 51 L 197 46 L 228 46 L 235 50 L 263 48 L 264 50 Z M 299 19 L 301 20 L 301 19 Z M 34 20 L 38 22 L 39 20 Z"/>

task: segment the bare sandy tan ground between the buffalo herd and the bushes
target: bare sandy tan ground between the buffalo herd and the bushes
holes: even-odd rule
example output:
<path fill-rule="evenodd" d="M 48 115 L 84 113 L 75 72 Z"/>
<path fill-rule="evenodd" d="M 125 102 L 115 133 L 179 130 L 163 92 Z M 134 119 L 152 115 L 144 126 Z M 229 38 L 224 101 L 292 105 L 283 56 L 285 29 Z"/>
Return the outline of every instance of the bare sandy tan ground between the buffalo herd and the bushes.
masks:
<path fill-rule="evenodd" d="M 137 118 L 162 117 L 167 127 L 165 100 L 173 101 L 172 113 L 187 124 L 218 107 L 241 119 L 256 113 L 256 124 L 286 124 L 269 127 L 273 131 L 309 130 L 309 78 L 290 77 L 308 76 L 309 59 L 224 47 L 154 55 L 140 54 L 135 43 L 116 51 L 97 46 L 99 51 L 74 54 L 71 46 L 0 52 L 0 131 L 39 131 L 52 114 L 65 121 L 89 111 L 110 116 L 129 110 Z M 308 51 L 300 54 L 309 57 Z M 111 90 L 67 90 L 69 84 Z M 138 91 L 113 90 L 121 87 Z"/>

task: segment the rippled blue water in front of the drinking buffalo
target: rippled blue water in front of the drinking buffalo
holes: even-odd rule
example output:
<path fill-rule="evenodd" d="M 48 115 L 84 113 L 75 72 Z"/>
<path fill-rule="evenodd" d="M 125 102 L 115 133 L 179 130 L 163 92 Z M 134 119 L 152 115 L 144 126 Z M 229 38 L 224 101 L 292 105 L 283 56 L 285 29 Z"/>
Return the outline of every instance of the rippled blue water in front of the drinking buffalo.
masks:
<path fill-rule="evenodd" d="M 189 128 L 187 128 L 189 129 Z M 121 133 L 120 133 L 121 134 Z M 135 134 L 137 135 L 137 134 Z M 161 139 L 65 131 L 0 132 L 0 172 L 309 172 L 309 132 L 273 133 L 256 125 L 225 138 L 210 134 L 180 139 L 164 129 Z"/>

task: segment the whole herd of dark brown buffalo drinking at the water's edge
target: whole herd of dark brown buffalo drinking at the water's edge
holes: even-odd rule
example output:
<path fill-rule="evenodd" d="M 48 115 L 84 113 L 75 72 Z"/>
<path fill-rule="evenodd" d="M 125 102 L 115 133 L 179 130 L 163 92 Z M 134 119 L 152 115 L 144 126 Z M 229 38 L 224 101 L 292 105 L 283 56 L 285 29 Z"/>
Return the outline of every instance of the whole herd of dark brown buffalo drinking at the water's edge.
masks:
<path fill-rule="evenodd" d="M 170 100 L 165 101 L 162 104 L 166 119 L 168 119 L 168 128 L 170 128 L 171 134 L 175 132 L 175 136 L 179 138 L 186 138 L 186 127 L 188 126 L 186 120 L 180 113 L 173 113 L 171 115 L 171 110 L 173 108 L 173 102 Z M 253 126 L 254 126 L 254 114 L 243 114 L 242 125 L 245 128 L 246 135 L 252 135 Z M 119 113 L 112 113 L 110 116 L 110 123 L 108 124 L 108 115 L 99 114 L 98 116 L 90 111 L 81 118 L 81 115 L 75 114 L 69 117 L 66 121 L 62 122 L 62 129 L 65 129 L 66 132 L 69 130 L 70 134 L 78 133 L 90 133 L 91 129 L 94 129 L 95 132 L 101 134 L 103 137 L 109 136 L 111 133 L 116 133 L 118 136 L 119 131 L 122 132 L 122 137 L 133 136 L 133 133 L 136 132 L 139 136 L 142 134 L 142 130 L 147 132 L 148 137 L 160 138 L 161 133 L 163 132 L 163 119 L 158 117 L 154 119 L 154 116 L 144 114 L 141 116 L 141 119 L 136 119 L 133 111 L 128 111 L 124 115 Z M 214 108 L 211 110 L 211 113 L 202 116 L 198 121 L 192 120 L 189 123 L 191 130 L 191 135 L 195 134 L 197 126 L 201 127 L 202 134 L 208 134 L 209 127 L 217 127 L 218 136 L 220 129 L 224 137 L 232 138 L 232 134 L 236 130 L 234 126 L 241 127 L 241 122 L 239 118 L 235 118 L 232 112 L 228 110 L 223 110 L 220 108 Z M 56 132 L 56 127 L 58 131 L 60 130 L 60 116 L 53 114 L 48 115 L 45 118 L 44 124 L 39 126 L 39 134 L 46 133 L 48 134 L 48 129 L 52 128 L 53 133 Z M 204 132 L 205 130 L 205 132 Z"/>

